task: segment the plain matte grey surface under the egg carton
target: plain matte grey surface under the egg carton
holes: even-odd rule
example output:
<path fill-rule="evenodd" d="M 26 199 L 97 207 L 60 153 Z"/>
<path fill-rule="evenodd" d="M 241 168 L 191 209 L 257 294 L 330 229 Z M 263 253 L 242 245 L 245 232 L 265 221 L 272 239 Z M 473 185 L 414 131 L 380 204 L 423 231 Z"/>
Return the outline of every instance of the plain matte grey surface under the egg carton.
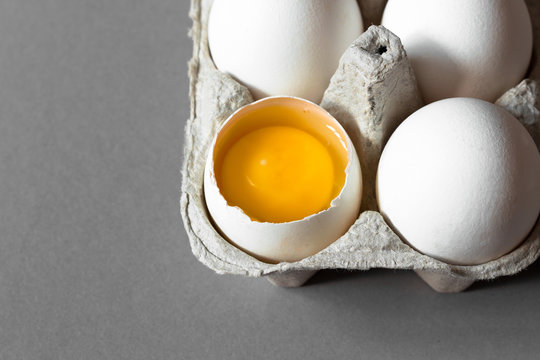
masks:
<path fill-rule="evenodd" d="M 538 357 L 538 264 L 458 295 L 199 264 L 178 210 L 188 8 L 0 1 L 1 359 Z"/>

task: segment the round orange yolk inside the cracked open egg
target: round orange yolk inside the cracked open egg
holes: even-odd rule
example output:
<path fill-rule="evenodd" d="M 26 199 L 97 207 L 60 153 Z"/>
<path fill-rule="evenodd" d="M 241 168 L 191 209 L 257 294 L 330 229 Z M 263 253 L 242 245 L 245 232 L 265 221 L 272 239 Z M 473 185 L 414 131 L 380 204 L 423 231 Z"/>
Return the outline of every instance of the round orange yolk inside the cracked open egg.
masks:
<path fill-rule="evenodd" d="M 294 127 L 268 126 L 245 134 L 228 149 L 218 172 L 229 205 L 257 221 L 300 220 L 329 208 L 335 196 L 327 147 Z"/>

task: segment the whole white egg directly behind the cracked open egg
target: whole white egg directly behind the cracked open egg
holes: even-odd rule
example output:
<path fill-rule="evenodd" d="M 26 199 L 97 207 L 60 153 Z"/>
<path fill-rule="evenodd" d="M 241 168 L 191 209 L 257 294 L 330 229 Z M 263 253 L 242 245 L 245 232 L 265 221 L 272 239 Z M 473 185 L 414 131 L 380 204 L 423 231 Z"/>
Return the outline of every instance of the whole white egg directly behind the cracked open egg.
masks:
<path fill-rule="evenodd" d="M 289 95 L 318 103 L 362 30 L 355 0 L 215 0 L 208 41 L 217 68 L 256 99 Z"/>

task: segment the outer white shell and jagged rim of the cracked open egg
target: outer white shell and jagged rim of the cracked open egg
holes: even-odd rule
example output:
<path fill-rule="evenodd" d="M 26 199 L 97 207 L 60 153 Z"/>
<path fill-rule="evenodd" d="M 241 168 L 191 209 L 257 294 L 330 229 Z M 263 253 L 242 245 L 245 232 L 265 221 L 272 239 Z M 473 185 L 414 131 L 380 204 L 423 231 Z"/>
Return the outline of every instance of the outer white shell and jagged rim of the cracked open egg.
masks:
<path fill-rule="evenodd" d="M 330 203 L 330 208 L 319 213 L 285 223 L 253 221 L 239 207 L 228 205 L 221 194 L 214 173 L 214 148 L 225 126 L 254 108 L 271 105 L 283 99 L 302 101 L 305 105 L 317 109 L 342 132 L 347 147 L 345 183 L 341 192 Z M 204 196 L 214 224 L 229 242 L 265 262 L 294 262 L 326 248 L 344 235 L 358 218 L 362 198 L 362 173 L 351 139 L 332 115 L 305 99 L 272 96 L 238 109 L 221 125 L 207 156 Z"/>

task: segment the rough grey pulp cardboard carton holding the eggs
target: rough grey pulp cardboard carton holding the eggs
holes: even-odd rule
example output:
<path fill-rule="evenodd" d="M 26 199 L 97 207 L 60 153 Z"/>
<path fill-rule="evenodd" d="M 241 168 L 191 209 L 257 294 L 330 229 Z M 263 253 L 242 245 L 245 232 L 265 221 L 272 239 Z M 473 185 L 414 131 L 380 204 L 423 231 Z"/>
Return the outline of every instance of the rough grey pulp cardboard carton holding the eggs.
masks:
<path fill-rule="evenodd" d="M 385 1 L 363 0 L 364 23 L 380 20 Z M 321 106 L 342 123 L 358 151 L 364 178 L 362 212 L 345 235 L 319 253 L 296 262 L 269 264 L 231 245 L 214 227 L 207 211 L 203 176 L 207 153 L 220 125 L 253 98 L 247 88 L 218 71 L 212 62 L 207 21 L 212 0 L 192 0 L 193 58 L 189 63 L 190 119 L 185 127 L 181 214 L 195 257 L 219 274 L 266 277 L 278 286 L 297 287 L 321 269 L 414 270 L 438 292 L 460 292 L 477 280 L 513 275 L 540 256 L 540 220 L 512 252 L 487 263 L 448 264 L 421 254 L 403 242 L 377 212 L 375 175 L 392 131 L 422 104 L 413 71 L 398 37 L 371 26 L 343 55 Z M 516 116 L 540 148 L 537 65 L 540 4 L 529 2 L 535 31 L 535 55 L 529 79 L 497 103 Z M 532 79 L 535 80 L 532 80 Z M 254 239 L 256 241 L 256 239 Z"/>

